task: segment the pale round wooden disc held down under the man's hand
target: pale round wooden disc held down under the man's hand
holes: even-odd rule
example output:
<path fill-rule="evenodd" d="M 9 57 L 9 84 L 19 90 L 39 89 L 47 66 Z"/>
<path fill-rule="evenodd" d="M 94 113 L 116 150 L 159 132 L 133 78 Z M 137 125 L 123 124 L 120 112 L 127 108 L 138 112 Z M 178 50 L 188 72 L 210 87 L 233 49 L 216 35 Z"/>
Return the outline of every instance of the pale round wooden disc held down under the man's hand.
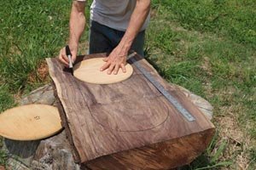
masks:
<path fill-rule="evenodd" d="M 133 69 L 129 64 L 125 65 L 125 73 L 119 69 L 117 75 L 114 75 L 113 73 L 108 75 L 108 69 L 105 71 L 100 71 L 100 68 L 105 63 L 102 59 L 103 58 L 95 58 L 81 61 L 79 64 L 74 66 L 73 76 L 77 77 L 83 82 L 90 82 L 94 84 L 111 84 L 115 82 L 122 82 L 131 77 Z"/>

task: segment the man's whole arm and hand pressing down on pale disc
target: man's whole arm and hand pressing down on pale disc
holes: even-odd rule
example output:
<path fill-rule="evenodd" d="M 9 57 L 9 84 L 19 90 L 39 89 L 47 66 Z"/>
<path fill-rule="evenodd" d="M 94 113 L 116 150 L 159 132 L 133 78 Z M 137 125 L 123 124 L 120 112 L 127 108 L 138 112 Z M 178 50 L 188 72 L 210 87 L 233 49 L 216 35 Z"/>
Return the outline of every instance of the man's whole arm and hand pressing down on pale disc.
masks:
<path fill-rule="evenodd" d="M 109 54 L 108 58 L 104 59 L 106 61 L 105 65 L 101 67 L 101 71 L 108 69 L 108 74 L 117 74 L 119 68 L 125 72 L 125 63 L 128 51 L 131 48 L 131 44 L 137 33 L 143 26 L 143 23 L 147 19 L 148 13 L 150 11 L 150 0 L 137 0 L 136 7 L 131 14 L 131 20 L 125 35 L 119 42 L 119 45 L 113 49 L 112 53 Z"/>

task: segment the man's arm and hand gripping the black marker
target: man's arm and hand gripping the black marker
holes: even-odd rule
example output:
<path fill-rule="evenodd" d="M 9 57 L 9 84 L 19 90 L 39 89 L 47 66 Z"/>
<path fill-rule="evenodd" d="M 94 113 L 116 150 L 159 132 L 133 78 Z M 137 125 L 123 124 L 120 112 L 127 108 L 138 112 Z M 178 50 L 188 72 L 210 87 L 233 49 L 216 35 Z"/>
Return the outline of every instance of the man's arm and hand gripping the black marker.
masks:
<path fill-rule="evenodd" d="M 84 16 L 85 1 L 73 1 L 70 20 L 69 20 L 69 41 L 68 45 L 72 53 L 72 60 L 75 61 L 79 48 L 79 39 L 84 31 L 85 16 Z M 68 58 L 65 48 L 60 51 L 59 59 L 68 66 Z"/>

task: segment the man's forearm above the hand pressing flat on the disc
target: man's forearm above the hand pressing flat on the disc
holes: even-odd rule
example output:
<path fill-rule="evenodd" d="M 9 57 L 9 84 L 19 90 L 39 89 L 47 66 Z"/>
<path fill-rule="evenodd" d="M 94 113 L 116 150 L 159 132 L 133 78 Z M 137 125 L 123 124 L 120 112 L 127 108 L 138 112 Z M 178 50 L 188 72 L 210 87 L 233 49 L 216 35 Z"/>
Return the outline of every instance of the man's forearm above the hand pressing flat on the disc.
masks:
<path fill-rule="evenodd" d="M 137 33 L 141 30 L 145 20 L 147 19 L 148 13 L 150 11 L 150 0 L 137 0 L 136 7 L 131 14 L 131 20 L 125 35 L 122 38 L 119 46 L 128 52 L 131 48 L 131 44 Z"/>

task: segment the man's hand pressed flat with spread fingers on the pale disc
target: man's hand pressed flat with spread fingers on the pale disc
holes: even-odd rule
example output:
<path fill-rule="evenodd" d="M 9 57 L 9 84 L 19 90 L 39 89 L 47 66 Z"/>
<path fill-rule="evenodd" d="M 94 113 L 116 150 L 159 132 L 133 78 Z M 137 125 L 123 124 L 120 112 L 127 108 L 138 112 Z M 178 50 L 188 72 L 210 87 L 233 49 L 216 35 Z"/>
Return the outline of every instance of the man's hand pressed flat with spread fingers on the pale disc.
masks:
<path fill-rule="evenodd" d="M 101 71 L 105 71 L 108 69 L 108 74 L 110 75 L 117 74 L 119 72 L 119 68 L 122 69 L 123 72 L 126 72 L 126 57 L 127 52 L 124 52 L 122 48 L 116 47 L 113 49 L 112 53 L 108 55 L 106 59 L 103 59 L 106 63 L 101 67 Z"/>

